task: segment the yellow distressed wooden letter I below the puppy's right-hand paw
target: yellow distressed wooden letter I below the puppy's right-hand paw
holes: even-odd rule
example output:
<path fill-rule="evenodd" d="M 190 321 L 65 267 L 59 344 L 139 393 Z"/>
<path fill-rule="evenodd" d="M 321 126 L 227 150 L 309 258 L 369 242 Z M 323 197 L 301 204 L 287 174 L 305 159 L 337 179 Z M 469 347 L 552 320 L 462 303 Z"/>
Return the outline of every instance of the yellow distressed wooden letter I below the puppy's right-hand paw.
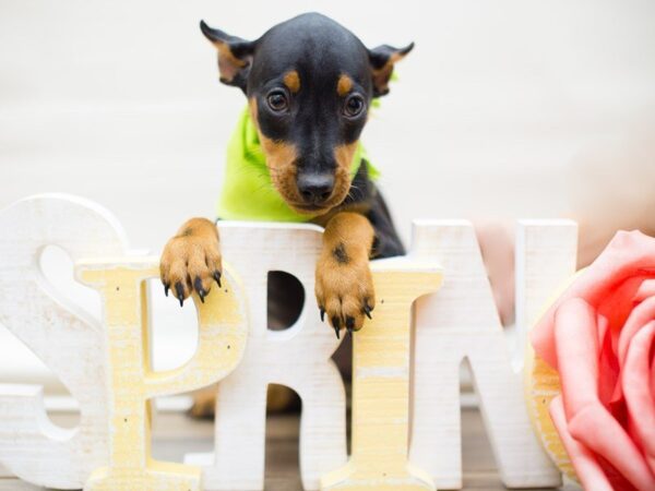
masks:
<path fill-rule="evenodd" d="M 407 459 L 412 304 L 434 292 L 441 274 L 406 260 L 373 263 L 378 303 L 354 335 L 353 452 L 321 479 L 322 490 L 432 490 Z"/>

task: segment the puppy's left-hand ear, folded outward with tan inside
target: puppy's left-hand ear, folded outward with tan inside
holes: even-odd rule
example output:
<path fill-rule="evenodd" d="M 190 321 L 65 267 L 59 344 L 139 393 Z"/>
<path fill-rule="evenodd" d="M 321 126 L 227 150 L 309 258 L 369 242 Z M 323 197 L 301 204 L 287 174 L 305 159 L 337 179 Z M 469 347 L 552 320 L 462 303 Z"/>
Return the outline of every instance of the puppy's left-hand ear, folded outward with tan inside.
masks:
<path fill-rule="evenodd" d="M 255 41 L 230 36 L 221 29 L 210 27 L 204 21 L 200 21 L 200 29 L 218 50 L 221 82 L 246 92 Z"/>

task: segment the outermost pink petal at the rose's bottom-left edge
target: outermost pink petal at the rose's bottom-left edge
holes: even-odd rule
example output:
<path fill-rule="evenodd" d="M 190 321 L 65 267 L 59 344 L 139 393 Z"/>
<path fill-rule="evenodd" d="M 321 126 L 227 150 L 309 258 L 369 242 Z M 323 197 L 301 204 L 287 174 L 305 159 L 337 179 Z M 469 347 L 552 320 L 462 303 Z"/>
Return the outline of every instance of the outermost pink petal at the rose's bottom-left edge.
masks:
<path fill-rule="evenodd" d="M 569 433 L 564 417 L 564 404 L 561 396 L 557 396 L 550 402 L 548 411 L 571 458 L 571 464 L 573 464 L 577 479 L 580 479 L 584 489 L 614 491 L 593 452 L 590 452 L 584 445 L 577 443 Z"/>

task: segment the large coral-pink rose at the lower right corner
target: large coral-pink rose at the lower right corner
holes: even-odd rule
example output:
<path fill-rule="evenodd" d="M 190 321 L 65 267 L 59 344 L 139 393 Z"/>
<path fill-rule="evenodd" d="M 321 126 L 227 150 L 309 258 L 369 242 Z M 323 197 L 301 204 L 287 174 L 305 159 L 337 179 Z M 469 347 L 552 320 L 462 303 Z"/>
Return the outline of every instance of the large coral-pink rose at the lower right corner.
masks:
<path fill-rule="evenodd" d="M 585 489 L 655 490 L 655 239 L 619 232 L 531 334 Z"/>

